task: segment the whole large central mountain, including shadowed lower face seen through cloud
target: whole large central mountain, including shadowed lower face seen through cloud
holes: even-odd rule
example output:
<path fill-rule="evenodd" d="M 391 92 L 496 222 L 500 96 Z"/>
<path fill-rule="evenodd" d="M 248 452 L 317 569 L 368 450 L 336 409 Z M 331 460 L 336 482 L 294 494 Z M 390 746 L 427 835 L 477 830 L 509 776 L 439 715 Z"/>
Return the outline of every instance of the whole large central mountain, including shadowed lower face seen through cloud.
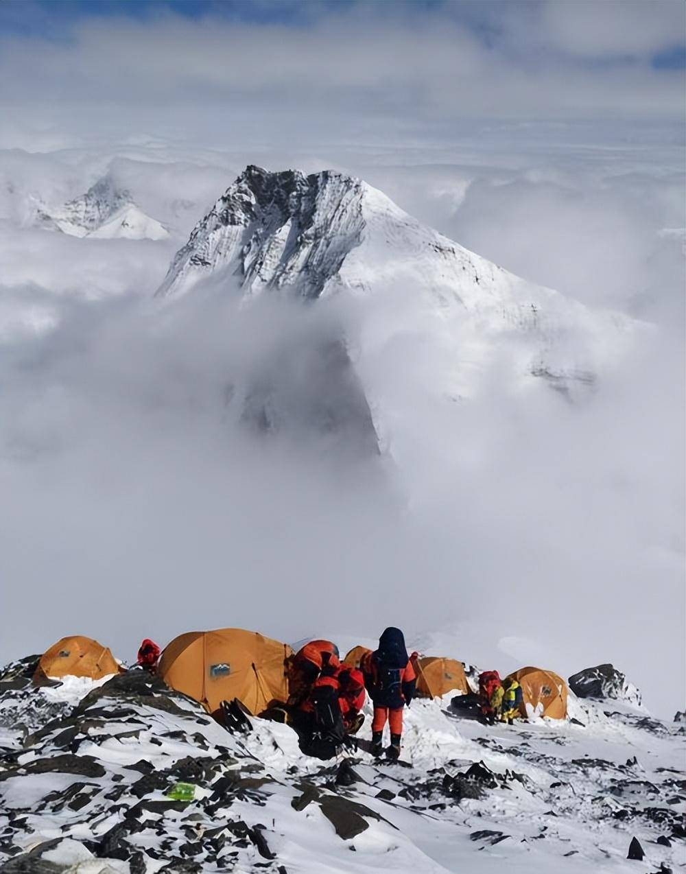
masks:
<path fill-rule="evenodd" d="M 426 389 L 452 404 L 489 391 L 494 367 L 507 390 L 537 383 L 568 399 L 586 394 L 641 330 L 510 274 L 333 170 L 246 167 L 197 223 L 156 294 L 174 299 L 208 280 L 211 293 L 238 289 L 243 298 L 354 299 L 364 310 L 358 336 L 341 324 L 336 336 L 284 339 L 234 392 L 234 406 L 260 432 L 305 425 L 374 453 L 392 434 L 395 392 L 375 356 L 394 336 L 419 331 L 433 356 Z"/>

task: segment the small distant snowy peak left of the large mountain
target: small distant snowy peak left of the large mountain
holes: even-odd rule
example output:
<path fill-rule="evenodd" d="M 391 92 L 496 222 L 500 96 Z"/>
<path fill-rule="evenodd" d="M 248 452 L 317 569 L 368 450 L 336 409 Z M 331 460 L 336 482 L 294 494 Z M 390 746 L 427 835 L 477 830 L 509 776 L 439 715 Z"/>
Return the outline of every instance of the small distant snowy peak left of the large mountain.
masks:
<path fill-rule="evenodd" d="M 166 239 L 169 231 L 135 205 L 129 191 L 120 189 L 109 175 L 85 194 L 50 209 L 36 204 L 35 224 L 73 237 L 99 239 Z"/>

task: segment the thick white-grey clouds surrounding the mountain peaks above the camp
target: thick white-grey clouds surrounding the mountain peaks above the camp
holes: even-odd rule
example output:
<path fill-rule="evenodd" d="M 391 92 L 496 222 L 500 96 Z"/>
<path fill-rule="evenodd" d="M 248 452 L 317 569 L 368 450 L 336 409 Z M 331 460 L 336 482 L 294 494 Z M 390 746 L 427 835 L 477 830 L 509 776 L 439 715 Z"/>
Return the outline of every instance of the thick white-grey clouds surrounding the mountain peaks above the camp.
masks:
<path fill-rule="evenodd" d="M 459 627 L 466 661 L 516 639 L 523 661 L 613 661 L 649 707 L 683 709 L 683 73 L 646 60 L 683 7 L 629 3 L 613 28 L 600 7 L 505 19 L 500 51 L 447 13 L 366 9 L 5 38 L 0 661 L 67 633 L 128 655 L 191 627 Z M 513 392 L 505 345 L 479 396 L 447 405 L 412 289 L 307 313 L 230 294 L 163 307 L 172 254 L 246 163 L 364 177 L 655 335 L 583 404 Z M 107 171 L 170 239 L 32 224 L 34 198 L 61 205 Z M 230 401 L 232 380 L 332 328 L 369 353 L 377 460 L 256 439 Z"/>

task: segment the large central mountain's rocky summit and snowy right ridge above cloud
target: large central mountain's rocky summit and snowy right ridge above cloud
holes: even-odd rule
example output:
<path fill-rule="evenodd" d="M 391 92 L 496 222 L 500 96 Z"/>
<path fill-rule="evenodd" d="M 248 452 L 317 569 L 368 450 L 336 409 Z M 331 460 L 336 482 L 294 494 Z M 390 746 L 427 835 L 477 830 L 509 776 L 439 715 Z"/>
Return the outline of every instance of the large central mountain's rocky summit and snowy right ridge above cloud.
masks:
<path fill-rule="evenodd" d="M 156 294 L 184 295 L 209 278 L 230 288 L 238 280 L 246 296 L 306 300 L 405 291 L 442 329 L 459 331 L 463 352 L 467 336 L 469 367 L 509 334 L 523 346 L 523 373 L 564 392 L 572 382 L 592 385 L 638 328 L 497 267 L 333 170 L 246 167 L 198 222 Z"/>

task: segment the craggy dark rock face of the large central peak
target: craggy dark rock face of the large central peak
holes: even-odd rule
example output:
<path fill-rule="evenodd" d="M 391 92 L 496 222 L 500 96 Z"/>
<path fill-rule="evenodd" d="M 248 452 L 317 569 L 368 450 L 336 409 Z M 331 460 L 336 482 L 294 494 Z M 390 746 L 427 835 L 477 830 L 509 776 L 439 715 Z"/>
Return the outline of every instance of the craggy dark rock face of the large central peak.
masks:
<path fill-rule="evenodd" d="M 304 297 L 319 297 L 359 245 L 369 190 L 333 170 L 305 176 L 251 164 L 198 222 L 157 294 L 183 293 L 231 268 L 248 293 L 297 286 Z"/>

